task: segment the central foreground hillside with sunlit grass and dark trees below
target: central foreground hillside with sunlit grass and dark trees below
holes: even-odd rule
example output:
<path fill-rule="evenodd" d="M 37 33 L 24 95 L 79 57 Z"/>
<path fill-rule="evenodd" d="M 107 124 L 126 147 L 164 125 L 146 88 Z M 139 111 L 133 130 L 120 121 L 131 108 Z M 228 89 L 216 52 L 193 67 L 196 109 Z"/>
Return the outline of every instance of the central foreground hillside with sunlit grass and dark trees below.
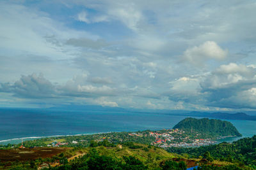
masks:
<path fill-rule="evenodd" d="M 128 144 L 128 145 L 127 145 Z M 59 164 L 55 168 L 60 169 L 186 169 L 186 167 L 194 167 L 200 165 L 202 169 L 248 169 L 248 167 L 238 166 L 232 162 L 206 160 L 206 159 L 189 159 L 186 154 L 177 155 L 176 153 L 168 153 L 162 148 L 154 146 L 142 145 L 139 143 L 127 143 L 116 145 L 113 147 L 96 146 L 83 149 L 75 149 L 79 155 L 79 159 L 73 159 L 61 166 Z M 131 147 L 131 145 L 136 147 Z M 66 153 L 67 154 L 67 153 Z M 65 155 L 64 154 L 64 157 Z"/>

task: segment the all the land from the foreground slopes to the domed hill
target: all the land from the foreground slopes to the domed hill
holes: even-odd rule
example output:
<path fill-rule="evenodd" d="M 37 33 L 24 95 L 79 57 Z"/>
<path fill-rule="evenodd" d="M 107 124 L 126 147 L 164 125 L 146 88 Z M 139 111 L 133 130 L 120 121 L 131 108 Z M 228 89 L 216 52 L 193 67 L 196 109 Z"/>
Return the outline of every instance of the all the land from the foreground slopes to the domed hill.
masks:
<path fill-rule="evenodd" d="M 239 132 L 229 122 L 209 119 L 186 118 L 175 127 L 184 129 L 61 136 L 0 146 L 0 169 L 256 169 L 256 136 L 185 148 L 177 146 L 198 146 L 211 140 L 206 138 Z"/>

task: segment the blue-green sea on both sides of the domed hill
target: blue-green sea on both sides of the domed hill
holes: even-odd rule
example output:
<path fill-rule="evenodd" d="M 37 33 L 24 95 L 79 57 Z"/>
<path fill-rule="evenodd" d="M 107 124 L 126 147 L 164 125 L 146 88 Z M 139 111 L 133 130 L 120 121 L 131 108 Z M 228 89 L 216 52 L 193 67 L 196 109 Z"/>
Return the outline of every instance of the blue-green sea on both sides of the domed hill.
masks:
<path fill-rule="evenodd" d="M 182 115 L 126 111 L 0 108 L 0 145 L 50 136 L 172 129 Z M 227 120 L 243 137 L 256 134 L 256 121 Z M 239 138 L 226 138 L 232 142 Z"/>

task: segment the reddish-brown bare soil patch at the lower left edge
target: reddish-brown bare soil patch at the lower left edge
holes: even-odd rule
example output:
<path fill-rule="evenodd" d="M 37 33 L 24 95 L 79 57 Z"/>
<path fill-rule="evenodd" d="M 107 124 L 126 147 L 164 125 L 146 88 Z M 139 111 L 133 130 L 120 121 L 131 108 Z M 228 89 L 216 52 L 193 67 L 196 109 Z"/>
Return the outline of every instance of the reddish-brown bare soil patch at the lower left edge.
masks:
<path fill-rule="evenodd" d="M 0 150 L 0 160 L 3 162 L 13 160 L 32 160 L 39 157 L 47 158 L 64 152 L 68 148 L 13 148 Z"/>

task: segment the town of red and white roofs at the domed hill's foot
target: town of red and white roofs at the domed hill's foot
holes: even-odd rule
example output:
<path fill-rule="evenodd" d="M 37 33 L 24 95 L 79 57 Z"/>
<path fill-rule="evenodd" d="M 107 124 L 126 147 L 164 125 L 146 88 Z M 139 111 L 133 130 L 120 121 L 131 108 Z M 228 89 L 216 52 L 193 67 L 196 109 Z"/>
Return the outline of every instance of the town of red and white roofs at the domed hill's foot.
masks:
<path fill-rule="evenodd" d="M 207 146 L 218 143 L 212 138 L 203 138 L 200 132 L 187 131 L 182 129 L 163 129 L 161 131 L 142 131 L 142 132 L 110 132 L 106 134 L 94 134 L 91 138 L 99 143 L 107 140 L 109 143 L 124 143 L 133 141 L 138 143 L 147 143 L 149 145 L 161 148 L 170 147 L 198 147 Z M 82 138 L 83 136 L 81 136 Z M 63 145 L 81 145 L 89 143 L 88 139 L 79 139 L 77 141 L 52 142 L 47 146 L 63 146 Z"/>

